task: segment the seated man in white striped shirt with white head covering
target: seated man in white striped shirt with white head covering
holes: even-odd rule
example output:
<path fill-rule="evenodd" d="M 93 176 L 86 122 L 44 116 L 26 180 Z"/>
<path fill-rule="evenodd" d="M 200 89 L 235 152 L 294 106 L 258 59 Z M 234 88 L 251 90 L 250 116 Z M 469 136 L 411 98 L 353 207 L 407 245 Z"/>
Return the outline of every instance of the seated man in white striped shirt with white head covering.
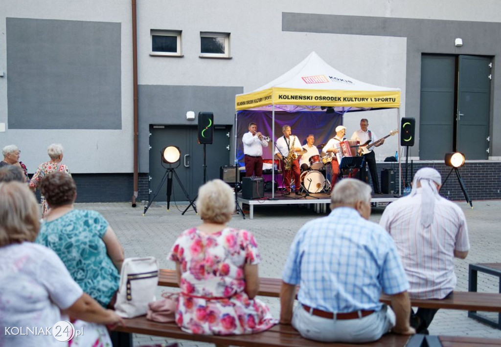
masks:
<path fill-rule="evenodd" d="M 469 250 L 463 211 L 438 194 L 440 173 L 418 170 L 409 196 L 386 207 L 379 225 L 395 241 L 410 283 L 411 298 L 443 299 L 456 286 L 454 257 L 464 259 Z M 419 308 L 411 313 L 417 333 L 427 333 L 438 309 Z"/>

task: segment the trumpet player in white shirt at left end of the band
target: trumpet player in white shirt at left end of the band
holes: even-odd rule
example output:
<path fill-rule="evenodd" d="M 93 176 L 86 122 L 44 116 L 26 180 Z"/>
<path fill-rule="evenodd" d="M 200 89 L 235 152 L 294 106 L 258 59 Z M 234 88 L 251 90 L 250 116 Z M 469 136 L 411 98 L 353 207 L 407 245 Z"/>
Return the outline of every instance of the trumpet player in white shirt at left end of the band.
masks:
<path fill-rule="evenodd" d="M 268 141 L 258 132 L 256 123 L 249 123 L 248 129 L 242 136 L 245 176 L 263 176 L 263 147 L 268 147 Z"/>

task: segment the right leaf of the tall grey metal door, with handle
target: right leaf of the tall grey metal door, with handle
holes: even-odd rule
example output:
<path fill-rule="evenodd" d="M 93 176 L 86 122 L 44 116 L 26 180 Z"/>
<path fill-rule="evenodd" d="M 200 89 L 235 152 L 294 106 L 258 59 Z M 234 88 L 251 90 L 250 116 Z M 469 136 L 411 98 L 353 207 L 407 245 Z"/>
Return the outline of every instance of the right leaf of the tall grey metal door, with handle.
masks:
<path fill-rule="evenodd" d="M 487 159 L 491 60 L 459 56 L 458 66 L 456 151 L 466 159 Z"/>

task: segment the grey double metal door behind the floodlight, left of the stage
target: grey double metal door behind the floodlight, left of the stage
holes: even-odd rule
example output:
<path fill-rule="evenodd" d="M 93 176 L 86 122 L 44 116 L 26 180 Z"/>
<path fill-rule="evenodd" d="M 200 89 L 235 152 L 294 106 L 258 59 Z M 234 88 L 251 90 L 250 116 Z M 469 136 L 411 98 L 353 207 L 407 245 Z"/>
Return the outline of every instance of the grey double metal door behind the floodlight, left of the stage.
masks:
<path fill-rule="evenodd" d="M 219 167 L 229 164 L 229 126 L 214 126 L 212 144 L 206 147 L 207 181 L 219 178 Z M 197 141 L 196 126 L 150 125 L 150 199 L 167 171 L 167 164 L 161 162 L 161 150 L 166 146 L 177 146 L 181 151 L 180 165 L 175 168 L 181 184 L 194 199 L 198 187 L 203 184 L 203 145 Z M 176 164 L 177 165 L 177 164 Z M 167 201 L 167 182 L 160 188 L 155 201 Z M 187 201 L 179 182 L 172 181 L 170 201 Z"/>

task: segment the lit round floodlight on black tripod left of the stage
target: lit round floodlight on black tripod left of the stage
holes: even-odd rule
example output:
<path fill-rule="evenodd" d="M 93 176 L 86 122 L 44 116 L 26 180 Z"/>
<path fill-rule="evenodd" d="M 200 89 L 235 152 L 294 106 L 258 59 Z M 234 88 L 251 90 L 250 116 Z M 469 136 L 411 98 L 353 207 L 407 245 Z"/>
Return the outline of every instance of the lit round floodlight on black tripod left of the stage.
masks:
<path fill-rule="evenodd" d="M 148 208 L 150 207 L 153 200 L 155 200 L 155 197 L 158 195 L 158 192 L 160 191 L 160 188 L 162 188 L 163 184 L 165 183 L 165 180 L 167 180 L 167 211 L 169 210 L 170 196 L 172 195 L 172 176 L 174 176 L 176 178 L 177 183 L 179 183 L 179 186 L 181 187 L 184 195 L 188 199 L 188 202 L 189 202 L 188 208 L 189 208 L 189 206 L 193 206 L 193 209 L 196 212 L 196 207 L 193 203 L 193 200 L 190 199 L 188 192 L 184 188 L 181 180 L 179 179 L 179 177 L 177 176 L 177 173 L 175 171 L 175 169 L 178 168 L 179 165 L 181 165 L 181 161 L 180 161 L 181 150 L 177 146 L 164 147 L 160 151 L 160 158 L 161 158 L 162 166 L 166 169 L 165 174 L 163 175 L 160 184 L 155 189 L 155 193 L 153 194 L 153 198 L 148 202 L 148 205 L 144 208 L 143 216 L 146 213 L 146 211 L 148 210 Z M 169 167 L 165 167 L 164 164 L 168 164 Z M 175 164 L 177 164 L 177 165 L 175 165 Z M 175 166 L 173 166 L 173 165 L 175 165 Z M 184 212 L 186 212 L 186 210 L 184 210 Z M 184 214 L 184 212 L 182 214 Z"/>

